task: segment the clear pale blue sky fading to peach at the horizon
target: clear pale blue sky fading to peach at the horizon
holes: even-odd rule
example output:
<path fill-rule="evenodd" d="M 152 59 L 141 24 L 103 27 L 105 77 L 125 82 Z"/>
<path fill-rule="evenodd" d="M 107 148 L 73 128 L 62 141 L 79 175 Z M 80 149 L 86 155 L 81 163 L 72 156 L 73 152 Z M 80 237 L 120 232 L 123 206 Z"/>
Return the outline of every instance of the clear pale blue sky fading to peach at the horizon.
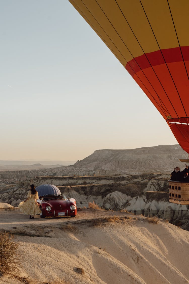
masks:
<path fill-rule="evenodd" d="M 178 144 L 67 0 L 1 0 L 0 160 Z"/>

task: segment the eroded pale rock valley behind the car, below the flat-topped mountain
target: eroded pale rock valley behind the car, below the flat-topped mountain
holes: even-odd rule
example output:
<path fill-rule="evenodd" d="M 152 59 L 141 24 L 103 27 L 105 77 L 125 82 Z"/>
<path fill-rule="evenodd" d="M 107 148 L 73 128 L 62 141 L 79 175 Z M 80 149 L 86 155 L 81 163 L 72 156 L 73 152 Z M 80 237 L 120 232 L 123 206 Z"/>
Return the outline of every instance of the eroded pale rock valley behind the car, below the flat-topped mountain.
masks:
<path fill-rule="evenodd" d="M 67 198 L 75 198 L 78 207 L 88 207 L 89 202 L 95 201 L 106 210 L 157 216 L 189 230 L 188 206 L 169 202 L 168 179 L 169 175 L 161 174 L 36 177 L 1 189 L 0 202 L 18 206 L 26 198 L 31 183 L 54 184 Z"/>

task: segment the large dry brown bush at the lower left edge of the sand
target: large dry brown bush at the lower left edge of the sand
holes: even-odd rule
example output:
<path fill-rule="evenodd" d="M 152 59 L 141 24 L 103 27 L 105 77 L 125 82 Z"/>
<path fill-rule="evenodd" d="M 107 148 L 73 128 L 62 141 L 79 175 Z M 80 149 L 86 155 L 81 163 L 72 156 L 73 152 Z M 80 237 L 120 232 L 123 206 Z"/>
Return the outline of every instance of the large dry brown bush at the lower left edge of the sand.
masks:
<path fill-rule="evenodd" d="M 0 233 L 0 274 L 18 272 L 21 255 L 10 233 Z"/>

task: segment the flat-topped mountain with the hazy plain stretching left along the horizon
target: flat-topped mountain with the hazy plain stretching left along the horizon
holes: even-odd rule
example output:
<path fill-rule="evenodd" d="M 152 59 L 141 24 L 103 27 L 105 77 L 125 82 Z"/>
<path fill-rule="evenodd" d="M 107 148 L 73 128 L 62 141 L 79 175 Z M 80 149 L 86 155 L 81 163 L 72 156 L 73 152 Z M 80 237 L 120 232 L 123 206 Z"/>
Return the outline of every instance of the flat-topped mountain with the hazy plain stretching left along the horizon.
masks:
<path fill-rule="evenodd" d="M 34 176 L 93 176 L 135 173 L 170 173 L 185 163 L 179 158 L 188 154 L 179 145 L 159 145 L 126 150 L 96 150 L 90 156 L 70 166 L 36 170 L 0 172 L 0 178 L 29 178 Z"/>

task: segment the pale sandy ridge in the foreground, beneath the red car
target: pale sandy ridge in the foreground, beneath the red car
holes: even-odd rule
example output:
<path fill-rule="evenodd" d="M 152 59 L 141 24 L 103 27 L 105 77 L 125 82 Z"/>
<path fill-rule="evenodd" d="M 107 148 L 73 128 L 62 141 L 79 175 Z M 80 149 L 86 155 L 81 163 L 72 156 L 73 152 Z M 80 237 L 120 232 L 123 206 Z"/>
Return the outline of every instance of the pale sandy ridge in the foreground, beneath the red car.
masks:
<path fill-rule="evenodd" d="M 20 242 L 22 275 L 37 283 L 189 283 L 189 232 L 165 221 L 93 209 L 35 220 L 7 209 L 0 218 L 0 230 Z M 7 276 L 0 283 L 20 282 Z"/>

